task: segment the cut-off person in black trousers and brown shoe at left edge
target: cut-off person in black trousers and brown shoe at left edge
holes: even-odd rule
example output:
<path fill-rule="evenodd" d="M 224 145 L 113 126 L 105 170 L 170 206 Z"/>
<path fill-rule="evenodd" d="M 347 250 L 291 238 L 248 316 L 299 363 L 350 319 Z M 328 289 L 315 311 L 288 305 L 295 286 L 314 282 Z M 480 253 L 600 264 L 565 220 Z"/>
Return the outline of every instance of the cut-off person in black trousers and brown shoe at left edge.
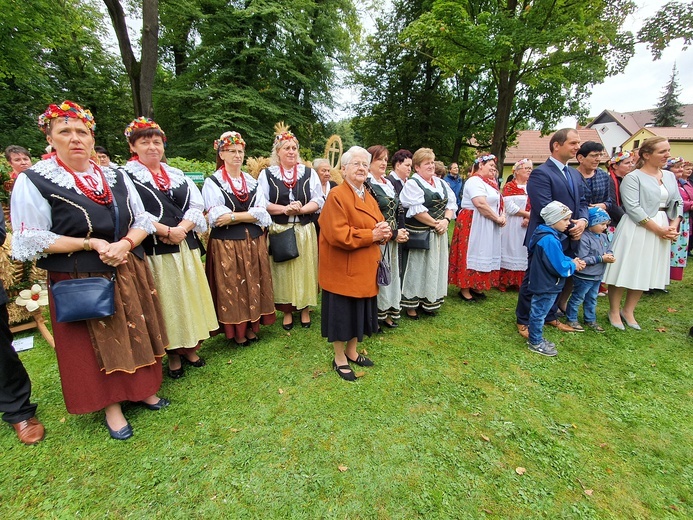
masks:
<path fill-rule="evenodd" d="M 5 243 L 5 215 L 0 207 L 0 246 Z M 36 444 L 44 436 L 43 425 L 36 419 L 36 405 L 30 402 L 31 381 L 19 356 L 12 347 L 7 315 L 9 301 L 0 282 L 0 413 L 10 423 L 24 444 Z"/>

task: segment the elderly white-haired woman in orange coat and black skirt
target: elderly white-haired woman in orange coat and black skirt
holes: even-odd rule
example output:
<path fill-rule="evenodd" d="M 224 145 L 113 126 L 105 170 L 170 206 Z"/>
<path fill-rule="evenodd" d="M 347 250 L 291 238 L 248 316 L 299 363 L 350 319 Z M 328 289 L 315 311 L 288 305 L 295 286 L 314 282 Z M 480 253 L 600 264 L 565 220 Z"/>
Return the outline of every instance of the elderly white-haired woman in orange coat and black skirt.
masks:
<path fill-rule="evenodd" d="M 349 361 L 373 365 L 356 346 L 364 335 L 378 331 L 378 244 L 392 237 L 378 203 L 366 191 L 370 161 L 371 155 L 358 146 L 342 156 L 344 182 L 330 190 L 319 219 L 322 335 L 334 345 L 332 367 L 346 381 L 356 380 Z"/>

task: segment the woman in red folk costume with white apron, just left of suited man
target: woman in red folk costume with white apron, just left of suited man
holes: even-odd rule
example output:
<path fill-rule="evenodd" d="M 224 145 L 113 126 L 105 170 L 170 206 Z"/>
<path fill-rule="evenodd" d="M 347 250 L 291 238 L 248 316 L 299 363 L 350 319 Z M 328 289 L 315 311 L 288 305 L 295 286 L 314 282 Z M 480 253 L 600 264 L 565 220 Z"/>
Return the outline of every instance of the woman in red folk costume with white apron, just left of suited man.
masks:
<path fill-rule="evenodd" d="M 503 186 L 506 224 L 501 228 L 501 271 L 498 289 L 520 288 L 527 270 L 527 248 L 524 245 L 529 208 L 527 180 L 532 161 L 521 159 L 513 166 L 513 179 Z"/>

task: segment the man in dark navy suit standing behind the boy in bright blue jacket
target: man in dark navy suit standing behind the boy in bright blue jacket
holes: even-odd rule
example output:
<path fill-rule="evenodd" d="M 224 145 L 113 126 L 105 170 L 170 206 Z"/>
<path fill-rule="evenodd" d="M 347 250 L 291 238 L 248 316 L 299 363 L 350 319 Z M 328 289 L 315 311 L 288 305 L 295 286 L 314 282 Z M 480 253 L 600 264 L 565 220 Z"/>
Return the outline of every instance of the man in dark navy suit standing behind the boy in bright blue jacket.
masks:
<path fill-rule="evenodd" d="M 575 157 L 580 148 L 580 135 L 577 130 L 563 128 L 556 131 L 549 141 L 551 156 L 544 164 L 532 170 L 527 181 L 527 194 L 531 205 L 527 234 L 525 235 L 525 245 L 529 244 L 532 233 L 539 224 L 544 221 L 540 212 L 551 201 L 557 200 L 568 206 L 573 212 L 572 223 L 567 230 L 570 240 L 564 243 L 566 255 L 574 257 L 577 253 L 578 244 L 582 232 L 587 227 L 588 205 L 583 192 L 583 182 L 580 172 L 568 166 L 568 161 Z M 528 265 L 531 264 L 531 259 Z M 529 307 L 532 295 L 529 292 L 529 267 L 525 272 L 525 277 L 520 286 L 520 293 L 517 297 L 517 330 L 525 338 L 529 337 L 527 326 L 529 324 Z M 570 291 L 572 284 L 565 290 Z M 575 329 L 558 321 L 556 316 L 556 306 L 551 309 L 546 317 L 546 324 L 557 327 L 563 332 L 574 332 Z"/>

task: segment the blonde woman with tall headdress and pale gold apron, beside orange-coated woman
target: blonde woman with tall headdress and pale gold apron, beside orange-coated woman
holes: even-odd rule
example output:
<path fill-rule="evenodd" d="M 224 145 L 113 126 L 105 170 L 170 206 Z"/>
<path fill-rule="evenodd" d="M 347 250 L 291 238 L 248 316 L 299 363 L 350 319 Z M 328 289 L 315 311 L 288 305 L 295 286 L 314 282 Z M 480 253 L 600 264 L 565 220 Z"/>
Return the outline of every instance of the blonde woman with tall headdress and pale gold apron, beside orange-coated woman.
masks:
<path fill-rule="evenodd" d="M 275 127 L 276 136 L 270 161 L 258 177 L 258 190 L 268 200 L 272 235 L 293 228 L 298 257 L 284 262 L 270 259 L 274 303 L 284 313 L 282 326 L 291 330 L 293 312 L 301 311 L 301 326 L 310 327 L 310 306 L 318 303 L 318 240 L 313 214 L 322 208 L 325 197 L 315 170 L 300 164 L 298 140 L 283 123 Z"/>

